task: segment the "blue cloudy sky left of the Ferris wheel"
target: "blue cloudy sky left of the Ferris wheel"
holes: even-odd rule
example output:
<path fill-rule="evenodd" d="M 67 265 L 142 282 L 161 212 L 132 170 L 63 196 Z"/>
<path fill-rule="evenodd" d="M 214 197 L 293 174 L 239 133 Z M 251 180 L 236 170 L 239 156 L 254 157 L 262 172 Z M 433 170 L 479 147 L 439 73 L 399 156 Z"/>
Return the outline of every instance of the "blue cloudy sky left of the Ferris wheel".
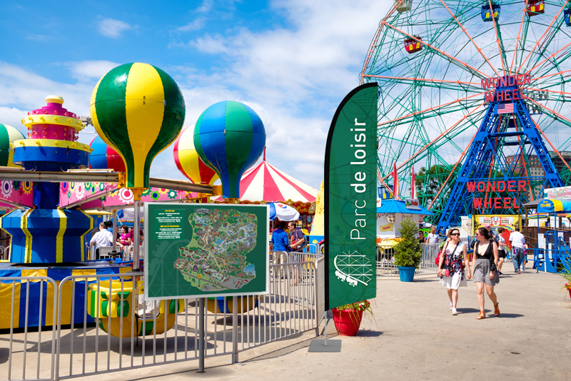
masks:
<path fill-rule="evenodd" d="M 89 115 L 106 71 L 145 62 L 178 82 L 184 127 L 218 101 L 246 103 L 266 126 L 268 162 L 318 188 L 331 118 L 358 86 L 391 2 L 2 2 L 0 123 L 24 132 L 20 119 L 50 94 Z M 93 137 L 93 127 L 80 133 L 86 143 Z M 157 156 L 151 176 L 183 178 L 172 147 Z"/>

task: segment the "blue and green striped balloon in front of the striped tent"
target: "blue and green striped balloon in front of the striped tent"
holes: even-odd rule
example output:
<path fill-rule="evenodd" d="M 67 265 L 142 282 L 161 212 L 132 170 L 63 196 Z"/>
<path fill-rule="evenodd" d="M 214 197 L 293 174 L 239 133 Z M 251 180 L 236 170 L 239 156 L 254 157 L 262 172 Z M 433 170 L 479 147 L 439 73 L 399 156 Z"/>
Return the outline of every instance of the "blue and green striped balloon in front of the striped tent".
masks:
<path fill-rule="evenodd" d="M 223 101 L 206 108 L 194 126 L 198 156 L 222 181 L 224 198 L 240 197 L 240 180 L 263 153 L 266 129 L 256 111 Z"/>

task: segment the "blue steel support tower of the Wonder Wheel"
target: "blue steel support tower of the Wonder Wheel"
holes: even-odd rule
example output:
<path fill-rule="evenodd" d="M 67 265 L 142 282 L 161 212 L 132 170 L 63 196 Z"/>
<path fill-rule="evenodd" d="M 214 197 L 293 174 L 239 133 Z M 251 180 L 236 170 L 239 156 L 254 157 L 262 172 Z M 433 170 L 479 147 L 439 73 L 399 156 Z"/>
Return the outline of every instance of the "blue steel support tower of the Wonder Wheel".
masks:
<path fill-rule="evenodd" d="M 518 89 L 517 84 L 495 88 L 495 101 L 490 101 L 487 106 L 482 124 L 468 150 L 458 179 L 438 221 L 439 233 L 443 233 L 450 225 L 460 223 L 460 215 L 470 215 L 476 212 L 473 210 L 473 198 L 482 199 L 482 209 L 477 210 L 480 214 L 517 214 L 517 209 L 527 200 L 532 184 L 542 182 L 540 194 L 546 186 L 554 188 L 564 186 L 525 102 L 522 100 L 497 101 L 498 91 L 517 91 Z M 513 103 L 514 112 L 498 113 L 497 108 L 502 103 Z M 512 156 L 515 160 L 510 161 L 503 154 L 502 148 L 505 146 L 516 146 L 516 152 Z M 519 158 L 523 158 L 525 161 L 533 152 L 539 158 L 545 176 L 520 176 Z M 497 189 L 494 191 L 487 187 L 485 191 L 476 190 L 473 193 L 468 191 L 468 182 L 477 183 L 480 181 L 486 184 L 488 181 L 490 183 L 525 181 L 527 191 L 498 192 Z M 510 208 L 497 209 L 493 208 L 493 203 L 486 205 L 483 202 L 483 200 L 500 197 L 511 198 L 515 200 L 516 205 L 510 206 Z M 502 204 L 503 206 L 505 205 Z"/>

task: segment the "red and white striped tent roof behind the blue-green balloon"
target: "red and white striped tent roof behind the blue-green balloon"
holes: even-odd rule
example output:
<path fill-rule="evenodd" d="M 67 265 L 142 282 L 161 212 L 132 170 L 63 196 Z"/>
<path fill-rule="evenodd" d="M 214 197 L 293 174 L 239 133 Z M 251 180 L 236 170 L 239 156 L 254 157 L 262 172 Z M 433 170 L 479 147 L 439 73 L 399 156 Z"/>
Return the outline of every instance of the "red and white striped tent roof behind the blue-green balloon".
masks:
<path fill-rule="evenodd" d="M 283 173 L 267 161 L 248 169 L 240 181 L 241 203 L 288 203 L 300 213 L 307 213 L 319 191 Z M 212 198 L 223 202 L 222 196 Z M 300 210 L 301 209 L 301 210 Z"/>

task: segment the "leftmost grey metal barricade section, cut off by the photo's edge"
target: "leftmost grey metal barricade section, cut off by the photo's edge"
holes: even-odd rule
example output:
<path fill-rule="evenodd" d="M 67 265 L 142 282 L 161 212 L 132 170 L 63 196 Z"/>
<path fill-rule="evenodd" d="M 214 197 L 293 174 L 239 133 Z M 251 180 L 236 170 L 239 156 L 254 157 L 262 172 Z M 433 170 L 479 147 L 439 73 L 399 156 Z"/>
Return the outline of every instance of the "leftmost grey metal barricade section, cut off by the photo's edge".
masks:
<path fill-rule="evenodd" d="M 31 298 L 32 288 L 33 294 L 38 292 L 37 300 Z M 46 332 L 42 340 L 45 327 L 41 322 L 56 322 L 57 289 L 54 280 L 46 276 L 0 277 L 0 294 L 11 293 L 10 305 L 3 305 L 0 312 L 10 322 L 9 338 L 6 340 L 4 335 L 0 335 L 0 340 L 8 345 L 7 348 L 4 345 L 0 348 L 4 352 L 1 357 L 7 357 L 7 361 L 0 364 L 0 374 L 6 375 L 6 380 L 54 380 L 56 330 L 52 329 L 51 334 Z M 31 306 L 30 302 L 34 305 Z M 37 310 L 38 315 L 32 314 L 31 309 Z M 40 322 L 38 332 L 29 332 L 28 326 L 36 318 Z M 19 331 L 23 328 L 24 332 L 14 332 L 14 325 L 20 322 L 24 326 L 20 326 Z"/>

